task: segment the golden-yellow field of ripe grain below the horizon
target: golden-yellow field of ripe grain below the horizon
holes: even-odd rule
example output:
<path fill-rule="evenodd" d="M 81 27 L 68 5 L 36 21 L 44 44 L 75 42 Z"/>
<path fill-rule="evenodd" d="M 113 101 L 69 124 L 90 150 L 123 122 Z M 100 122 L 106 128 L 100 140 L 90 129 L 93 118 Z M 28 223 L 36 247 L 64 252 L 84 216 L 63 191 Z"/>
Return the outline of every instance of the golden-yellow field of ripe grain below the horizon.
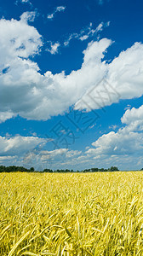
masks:
<path fill-rule="evenodd" d="M 0 255 L 143 255 L 143 172 L 0 173 Z"/>

